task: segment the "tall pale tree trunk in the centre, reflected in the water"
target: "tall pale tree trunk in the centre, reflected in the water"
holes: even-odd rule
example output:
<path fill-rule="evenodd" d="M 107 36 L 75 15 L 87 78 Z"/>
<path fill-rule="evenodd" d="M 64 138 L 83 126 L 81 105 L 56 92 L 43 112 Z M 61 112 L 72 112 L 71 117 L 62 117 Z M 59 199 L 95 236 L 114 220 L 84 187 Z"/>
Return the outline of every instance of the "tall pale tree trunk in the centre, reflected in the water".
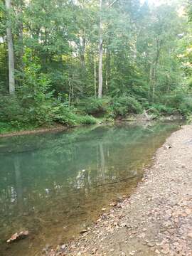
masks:
<path fill-rule="evenodd" d="M 98 86 L 98 97 L 102 98 L 102 0 L 100 0 L 100 26 L 99 26 L 99 86 Z"/>

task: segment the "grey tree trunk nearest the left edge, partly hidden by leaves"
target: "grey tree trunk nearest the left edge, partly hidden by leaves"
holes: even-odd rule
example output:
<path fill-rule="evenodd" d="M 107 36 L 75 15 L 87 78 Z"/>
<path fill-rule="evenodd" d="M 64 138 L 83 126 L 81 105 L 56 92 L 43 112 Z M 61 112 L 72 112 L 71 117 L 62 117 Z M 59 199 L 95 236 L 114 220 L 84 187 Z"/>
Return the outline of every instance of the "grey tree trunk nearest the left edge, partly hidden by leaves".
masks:
<path fill-rule="evenodd" d="M 6 9 L 11 9 L 11 0 L 6 0 Z M 14 42 L 11 33 L 11 28 L 6 28 L 6 38 L 8 44 L 8 57 L 9 57 L 9 93 L 14 94 L 15 92 L 15 76 L 14 76 Z"/>

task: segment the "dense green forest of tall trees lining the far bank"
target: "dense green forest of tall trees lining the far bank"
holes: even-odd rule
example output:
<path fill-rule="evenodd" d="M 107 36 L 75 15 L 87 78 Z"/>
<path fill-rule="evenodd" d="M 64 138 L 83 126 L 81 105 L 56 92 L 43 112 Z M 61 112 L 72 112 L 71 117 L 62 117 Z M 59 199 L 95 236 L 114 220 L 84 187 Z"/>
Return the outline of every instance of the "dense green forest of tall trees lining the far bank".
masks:
<path fill-rule="evenodd" d="M 1 0 L 0 132 L 191 119 L 191 21 L 191 0 Z"/>

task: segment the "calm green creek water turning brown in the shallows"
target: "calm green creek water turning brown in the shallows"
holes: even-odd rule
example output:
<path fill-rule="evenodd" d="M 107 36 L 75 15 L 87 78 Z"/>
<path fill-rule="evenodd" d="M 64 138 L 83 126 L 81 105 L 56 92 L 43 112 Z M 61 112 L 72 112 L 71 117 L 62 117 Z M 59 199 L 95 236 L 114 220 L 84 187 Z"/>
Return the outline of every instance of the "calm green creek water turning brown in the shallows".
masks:
<path fill-rule="evenodd" d="M 0 255 L 41 255 L 132 193 L 176 124 L 84 127 L 0 139 Z M 29 230 L 25 240 L 6 244 Z"/>

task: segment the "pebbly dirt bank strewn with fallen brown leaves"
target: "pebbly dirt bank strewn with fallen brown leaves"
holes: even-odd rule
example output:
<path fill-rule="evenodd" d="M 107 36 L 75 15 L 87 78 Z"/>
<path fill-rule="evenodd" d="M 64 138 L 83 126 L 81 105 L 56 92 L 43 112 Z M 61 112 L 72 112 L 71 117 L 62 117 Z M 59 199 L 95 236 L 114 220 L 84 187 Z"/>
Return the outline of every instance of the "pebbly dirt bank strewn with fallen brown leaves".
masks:
<path fill-rule="evenodd" d="M 130 198 L 49 255 L 192 255 L 192 126 L 166 140 Z"/>

